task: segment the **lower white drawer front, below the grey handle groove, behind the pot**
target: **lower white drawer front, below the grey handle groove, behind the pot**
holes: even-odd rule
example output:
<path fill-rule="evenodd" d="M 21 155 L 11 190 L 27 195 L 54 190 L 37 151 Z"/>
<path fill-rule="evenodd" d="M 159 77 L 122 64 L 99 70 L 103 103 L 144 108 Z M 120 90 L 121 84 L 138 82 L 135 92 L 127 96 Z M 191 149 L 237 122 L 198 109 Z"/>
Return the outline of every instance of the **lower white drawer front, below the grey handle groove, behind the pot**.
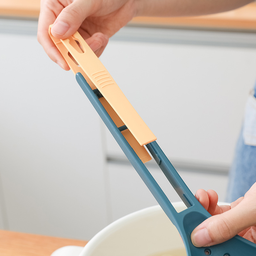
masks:
<path fill-rule="evenodd" d="M 150 167 L 148 169 L 172 203 L 181 201 L 160 169 Z M 190 170 L 177 169 L 177 171 L 193 194 L 199 188 L 213 189 L 218 193 L 219 201 L 225 201 L 227 176 Z M 131 165 L 108 164 L 108 173 L 112 220 L 157 204 Z"/>

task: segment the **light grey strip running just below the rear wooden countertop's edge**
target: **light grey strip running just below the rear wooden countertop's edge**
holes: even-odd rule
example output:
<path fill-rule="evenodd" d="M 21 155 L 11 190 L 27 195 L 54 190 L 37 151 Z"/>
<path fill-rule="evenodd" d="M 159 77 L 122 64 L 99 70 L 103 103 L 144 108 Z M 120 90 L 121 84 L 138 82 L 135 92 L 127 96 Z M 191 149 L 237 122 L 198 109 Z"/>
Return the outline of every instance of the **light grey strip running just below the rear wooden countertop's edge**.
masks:
<path fill-rule="evenodd" d="M 36 35 L 37 20 L 12 20 L 0 18 L 2 33 Z M 170 29 L 152 27 L 124 27 L 111 40 L 125 42 L 150 42 L 165 44 L 212 45 L 225 47 L 255 48 L 254 32 L 239 31 L 207 31 L 196 29 Z"/>

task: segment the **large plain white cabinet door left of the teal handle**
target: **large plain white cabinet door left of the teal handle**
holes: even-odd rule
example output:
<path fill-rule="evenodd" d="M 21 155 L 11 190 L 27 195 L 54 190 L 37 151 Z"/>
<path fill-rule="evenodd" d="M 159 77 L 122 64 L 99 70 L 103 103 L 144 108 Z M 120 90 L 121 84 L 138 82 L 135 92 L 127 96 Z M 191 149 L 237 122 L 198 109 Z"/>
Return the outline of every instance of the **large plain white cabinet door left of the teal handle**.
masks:
<path fill-rule="evenodd" d="M 5 224 L 90 239 L 108 223 L 100 118 L 36 35 L 2 33 L 0 48 Z"/>

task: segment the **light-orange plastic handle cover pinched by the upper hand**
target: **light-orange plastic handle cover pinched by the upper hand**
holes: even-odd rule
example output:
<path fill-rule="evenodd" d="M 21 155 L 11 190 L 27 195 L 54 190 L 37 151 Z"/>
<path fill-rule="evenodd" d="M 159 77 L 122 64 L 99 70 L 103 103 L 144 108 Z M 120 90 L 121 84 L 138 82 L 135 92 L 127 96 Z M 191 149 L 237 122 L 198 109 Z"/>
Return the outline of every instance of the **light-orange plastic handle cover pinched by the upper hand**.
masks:
<path fill-rule="evenodd" d="M 80 72 L 87 83 L 90 84 L 91 88 L 97 88 L 103 95 L 104 98 L 100 98 L 100 101 L 115 124 L 118 127 L 125 124 L 128 131 L 132 134 L 132 137 L 135 138 L 140 146 L 155 141 L 155 135 L 150 131 L 148 126 L 132 107 L 131 103 L 124 96 L 124 93 L 118 87 L 95 53 L 84 41 L 82 36 L 76 32 L 73 36 L 70 36 L 67 39 L 57 39 L 51 34 L 51 26 L 49 28 L 49 34 L 71 70 L 75 74 Z M 128 131 L 122 132 L 123 134 L 126 134 L 125 138 L 131 137 L 130 135 L 127 135 L 129 133 Z M 130 138 L 127 140 L 130 145 L 131 143 L 136 144 L 136 142 L 132 142 L 131 140 L 133 141 L 134 139 Z M 134 149 L 134 145 L 131 146 Z M 144 151 L 144 149 L 142 150 Z M 145 151 L 147 152 L 146 149 Z M 135 152 L 137 153 L 136 150 Z M 149 155 L 146 156 L 145 153 L 143 153 L 140 158 L 145 158 L 145 161 L 151 159 L 151 157 Z"/>

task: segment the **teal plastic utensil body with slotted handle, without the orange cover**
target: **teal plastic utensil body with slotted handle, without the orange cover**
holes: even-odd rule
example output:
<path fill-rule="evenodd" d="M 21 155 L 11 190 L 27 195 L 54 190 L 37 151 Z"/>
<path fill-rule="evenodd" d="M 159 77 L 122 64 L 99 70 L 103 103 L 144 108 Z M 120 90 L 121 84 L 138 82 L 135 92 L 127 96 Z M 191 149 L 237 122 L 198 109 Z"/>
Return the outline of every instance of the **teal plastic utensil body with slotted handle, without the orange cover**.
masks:
<path fill-rule="evenodd" d="M 174 169 L 171 162 L 164 155 L 164 152 L 158 146 L 156 141 L 148 143 L 146 146 L 156 160 L 156 163 L 161 168 L 166 178 L 171 183 L 181 200 L 188 207 L 182 212 L 176 212 L 171 202 L 164 194 L 163 190 L 159 187 L 156 180 L 152 177 L 146 166 L 141 162 L 140 158 L 136 155 L 130 144 L 125 140 L 120 130 L 125 127 L 118 128 L 113 120 L 108 115 L 105 108 L 100 103 L 97 96 L 97 92 L 93 91 L 89 84 L 86 82 L 84 77 L 80 74 L 76 74 L 76 80 L 92 105 L 100 115 L 103 122 L 108 127 L 116 139 L 119 146 L 124 151 L 134 169 L 138 172 L 141 179 L 144 181 L 150 192 L 156 198 L 159 205 L 162 207 L 168 218 L 178 229 L 180 236 L 186 247 L 187 256 L 254 256 L 256 255 L 256 244 L 242 238 L 241 236 L 235 236 L 230 240 L 222 243 L 213 245 L 210 247 L 195 247 L 190 239 L 191 232 L 202 223 L 204 220 L 209 218 L 211 215 L 207 212 L 204 207 L 197 201 L 196 197 L 189 190 L 185 182 L 181 179 L 178 172 Z"/>

